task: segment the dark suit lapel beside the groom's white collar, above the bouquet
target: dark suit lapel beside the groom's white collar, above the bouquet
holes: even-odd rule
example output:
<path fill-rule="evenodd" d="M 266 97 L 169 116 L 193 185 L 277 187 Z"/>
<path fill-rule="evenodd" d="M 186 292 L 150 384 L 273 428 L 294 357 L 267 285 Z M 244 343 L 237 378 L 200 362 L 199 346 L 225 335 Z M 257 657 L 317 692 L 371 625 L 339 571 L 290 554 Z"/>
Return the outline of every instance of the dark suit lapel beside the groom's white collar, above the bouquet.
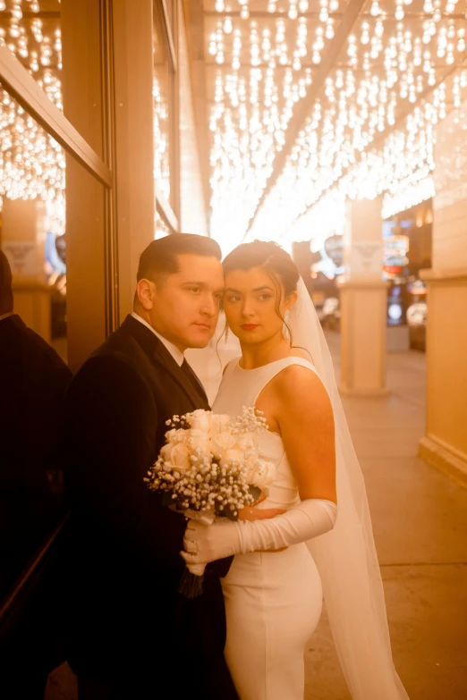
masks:
<path fill-rule="evenodd" d="M 140 343 L 142 350 L 149 356 L 151 362 L 162 367 L 166 372 L 172 375 L 173 379 L 183 392 L 190 399 L 193 409 L 209 410 L 208 401 L 205 401 L 191 384 L 189 378 L 183 373 L 182 369 L 177 365 L 174 358 L 166 347 L 159 341 L 157 335 L 152 333 L 145 325 L 140 324 L 136 318 L 127 316 L 123 321 L 122 326 L 126 326 L 128 331 Z"/>

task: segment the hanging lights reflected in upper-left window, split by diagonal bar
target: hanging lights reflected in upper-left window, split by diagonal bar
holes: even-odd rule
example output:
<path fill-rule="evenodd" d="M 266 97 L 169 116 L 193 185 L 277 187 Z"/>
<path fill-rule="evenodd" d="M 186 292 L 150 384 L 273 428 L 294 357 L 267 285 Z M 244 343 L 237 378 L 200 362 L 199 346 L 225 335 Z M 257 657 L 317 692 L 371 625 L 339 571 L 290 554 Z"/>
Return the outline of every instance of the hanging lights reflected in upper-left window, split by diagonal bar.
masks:
<path fill-rule="evenodd" d="M 62 109 L 58 0 L 42 1 L 40 7 L 38 0 L 0 0 L 0 41 Z M 0 197 L 42 198 L 47 203 L 49 229 L 61 233 L 64 168 L 63 149 L 0 88 Z"/>

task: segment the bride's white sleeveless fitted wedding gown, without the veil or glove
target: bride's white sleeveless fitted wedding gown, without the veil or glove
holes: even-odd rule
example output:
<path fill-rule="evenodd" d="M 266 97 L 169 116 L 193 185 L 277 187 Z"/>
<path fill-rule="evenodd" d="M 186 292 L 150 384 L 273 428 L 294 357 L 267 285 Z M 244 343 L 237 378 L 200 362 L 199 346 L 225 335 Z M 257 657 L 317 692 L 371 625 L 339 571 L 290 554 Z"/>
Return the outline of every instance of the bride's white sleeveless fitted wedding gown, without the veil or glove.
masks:
<path fill-rule="evenodd" d="M 301 358 L 249 370 L 234 359 L 225 370 L 213 411 L 241 415 L 242 407 L 254 406 L 266 384 L 290 365 L 315 371 Z M 260 456 L 276 463 L 276 480 L 259 508 L 288 510 L 300 499 L 282 438 L 266 429 L 258 438 Z M 237 554 L 222 586 L 225 658 L 241 700 L 302 700 L 303 655 L 322 607 L 321 581 L 307 545 Z"/>

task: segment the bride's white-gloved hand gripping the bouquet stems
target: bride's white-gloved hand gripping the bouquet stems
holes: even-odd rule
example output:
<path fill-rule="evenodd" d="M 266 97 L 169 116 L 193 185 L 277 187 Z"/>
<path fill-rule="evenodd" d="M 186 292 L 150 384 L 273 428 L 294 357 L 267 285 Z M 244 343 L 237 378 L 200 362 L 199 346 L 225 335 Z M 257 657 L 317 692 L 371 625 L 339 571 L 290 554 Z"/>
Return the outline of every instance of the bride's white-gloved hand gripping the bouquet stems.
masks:
<path fill-rule="evenodd" d="M 232 520 L 217 520 L 202 525 L 189 520 L 183 538 L 185 552 L 180 552 L 187 564 L 208 564 L 242 551 L 239 526 Z"/>

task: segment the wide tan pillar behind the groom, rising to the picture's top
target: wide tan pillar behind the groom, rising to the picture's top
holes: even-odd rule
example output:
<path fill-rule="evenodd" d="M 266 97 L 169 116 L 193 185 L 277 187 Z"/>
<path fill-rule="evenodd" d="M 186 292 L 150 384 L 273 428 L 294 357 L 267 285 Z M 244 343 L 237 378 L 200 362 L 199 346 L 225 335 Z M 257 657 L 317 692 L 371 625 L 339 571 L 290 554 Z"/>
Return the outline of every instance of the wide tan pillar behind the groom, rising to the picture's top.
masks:
<path fill-rule="evenodd" d="M 152 0 L 62 2 L 64 114 L 113 173 L 106 190 L 67 156 L 73 371 L 115 325 L 110 296 L 118 297 L 117 325 L 132 310 L 140 253 L 155 236 L 152 8 Z"/>

